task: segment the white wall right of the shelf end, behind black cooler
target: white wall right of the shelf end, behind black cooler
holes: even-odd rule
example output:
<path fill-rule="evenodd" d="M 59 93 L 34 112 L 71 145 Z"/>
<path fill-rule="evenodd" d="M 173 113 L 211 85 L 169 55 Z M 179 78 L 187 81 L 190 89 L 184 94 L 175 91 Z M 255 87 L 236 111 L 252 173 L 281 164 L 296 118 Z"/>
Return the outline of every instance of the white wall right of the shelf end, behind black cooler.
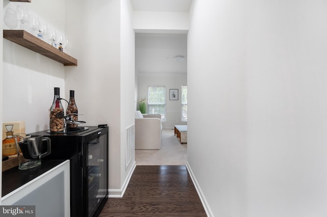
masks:
<path fill-rule="evenodd" d="M 79 113 L 84 114 L 79 120 L 108 124 L 109 188 L 120 188 L 120 3 L 75 0 L 66 7 L 72 9 L 66 14 L 67 33 L 74 41 L 78 66 L 66 69 L 65 84 L 75 90 Z"/>

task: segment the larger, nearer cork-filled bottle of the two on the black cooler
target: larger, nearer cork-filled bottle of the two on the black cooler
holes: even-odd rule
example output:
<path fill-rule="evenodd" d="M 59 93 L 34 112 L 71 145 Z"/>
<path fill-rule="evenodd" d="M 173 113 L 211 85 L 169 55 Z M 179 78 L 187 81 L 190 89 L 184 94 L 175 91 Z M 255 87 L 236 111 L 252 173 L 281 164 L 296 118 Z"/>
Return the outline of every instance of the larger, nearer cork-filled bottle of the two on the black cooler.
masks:
<path fill-rule="evenodd" d="M 62 132 L 64 128 L 64 112 L 60 101 L 60 88 L 55 88 L 55 96 L 50 107 L 50 132 Z"/>

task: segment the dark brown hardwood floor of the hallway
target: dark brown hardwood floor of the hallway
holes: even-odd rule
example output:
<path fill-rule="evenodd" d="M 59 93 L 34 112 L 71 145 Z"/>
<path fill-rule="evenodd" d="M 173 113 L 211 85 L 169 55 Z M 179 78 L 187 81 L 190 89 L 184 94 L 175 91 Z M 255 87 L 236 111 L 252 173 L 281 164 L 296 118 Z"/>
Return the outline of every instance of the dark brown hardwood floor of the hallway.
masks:
<path fill-rule="evenodd" d="M 206 216 L 186 166 L 136 166 L 123 198 L 99 216 Z"/>

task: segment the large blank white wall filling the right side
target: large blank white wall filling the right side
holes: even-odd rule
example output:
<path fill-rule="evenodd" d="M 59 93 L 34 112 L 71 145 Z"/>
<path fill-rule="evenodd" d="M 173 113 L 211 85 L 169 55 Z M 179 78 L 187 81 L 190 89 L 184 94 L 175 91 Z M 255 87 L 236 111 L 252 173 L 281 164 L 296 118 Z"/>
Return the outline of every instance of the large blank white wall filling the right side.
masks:
<path fill-rule="evenodd" d="M 188 164 L 210 214 L 327 214 L 326 8 L 193 0 Z"/>

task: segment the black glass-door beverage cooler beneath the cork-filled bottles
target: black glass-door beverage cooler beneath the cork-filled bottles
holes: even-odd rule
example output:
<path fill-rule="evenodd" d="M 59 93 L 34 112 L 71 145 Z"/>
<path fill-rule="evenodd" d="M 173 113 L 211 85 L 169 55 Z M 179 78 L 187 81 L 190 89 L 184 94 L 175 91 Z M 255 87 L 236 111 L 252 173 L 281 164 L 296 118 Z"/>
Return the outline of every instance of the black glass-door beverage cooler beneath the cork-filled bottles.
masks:
<path fill-rule="evenodd" d="M 48 159 L 69 159 L 71 216 L 98 216 L 108 200 L 108 126 L 78 132 L 37 132 L 51 140 Z"/>

